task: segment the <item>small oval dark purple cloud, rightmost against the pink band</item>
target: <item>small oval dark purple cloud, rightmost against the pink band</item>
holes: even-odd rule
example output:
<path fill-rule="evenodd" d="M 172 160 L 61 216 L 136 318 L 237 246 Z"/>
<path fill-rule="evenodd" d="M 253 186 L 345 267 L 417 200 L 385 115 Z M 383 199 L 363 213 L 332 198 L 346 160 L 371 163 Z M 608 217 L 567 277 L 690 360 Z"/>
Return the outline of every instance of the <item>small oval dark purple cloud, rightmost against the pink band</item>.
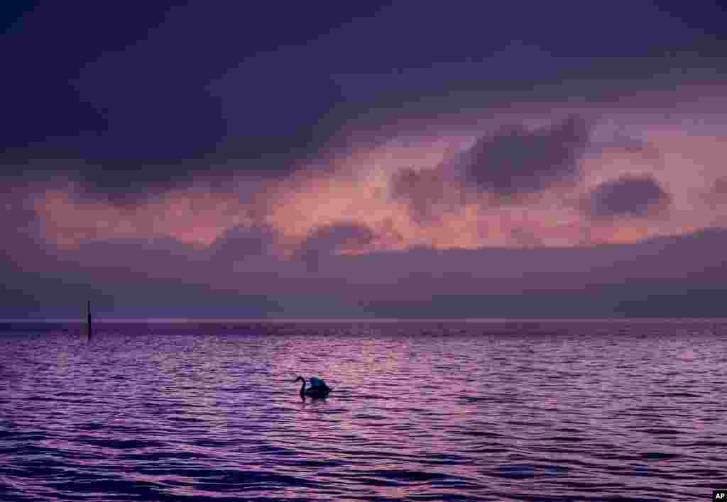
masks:
<path fill-rule="evenodd" d="M 593 189 L 586 203 L 592 218 L 648 216 L 664 209 L 671 201 L 651 176 L 628 176 L 603 182 Z"/>

